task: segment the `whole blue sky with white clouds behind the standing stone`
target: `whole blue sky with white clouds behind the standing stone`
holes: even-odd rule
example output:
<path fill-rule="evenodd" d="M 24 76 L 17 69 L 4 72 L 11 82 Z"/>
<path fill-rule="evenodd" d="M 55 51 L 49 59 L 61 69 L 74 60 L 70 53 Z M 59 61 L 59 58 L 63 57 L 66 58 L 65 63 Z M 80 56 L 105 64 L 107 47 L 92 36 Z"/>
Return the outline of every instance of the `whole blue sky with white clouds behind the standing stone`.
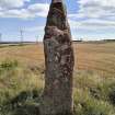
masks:
<path fill-rule="evenodd" d="M 2 41 L 43 41 L 51 0 L 0 0 Z M 115 38 L 115 0 L 64 0 L 72 39 Z"/>

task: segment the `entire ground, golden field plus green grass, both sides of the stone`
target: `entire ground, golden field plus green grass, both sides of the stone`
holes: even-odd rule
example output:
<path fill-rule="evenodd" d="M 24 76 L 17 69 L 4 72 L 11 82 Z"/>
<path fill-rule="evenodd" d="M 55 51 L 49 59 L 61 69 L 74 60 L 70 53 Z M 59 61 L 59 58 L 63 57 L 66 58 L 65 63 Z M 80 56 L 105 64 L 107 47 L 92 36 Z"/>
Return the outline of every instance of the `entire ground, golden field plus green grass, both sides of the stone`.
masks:
<path fill-rule="evenodd" d="M 115 115 L 114 45 L 74 46 L 74 115 Z M 41 44 L 0 48 L 0 115 L 36 115 L 43 89 Z"/>

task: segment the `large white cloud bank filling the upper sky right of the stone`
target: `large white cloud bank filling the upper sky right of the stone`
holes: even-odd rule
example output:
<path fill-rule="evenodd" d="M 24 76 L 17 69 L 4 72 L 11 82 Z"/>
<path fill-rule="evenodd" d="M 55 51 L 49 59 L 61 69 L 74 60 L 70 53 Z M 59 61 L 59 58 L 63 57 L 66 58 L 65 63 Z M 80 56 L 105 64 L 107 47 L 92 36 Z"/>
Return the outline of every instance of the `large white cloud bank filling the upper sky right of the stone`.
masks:
<path fill-rule="evenodd" d="M 115 0 L 77 0 L 79 10 L 69 14 L 72 30 L 106 32 L 115 30 Z"/>

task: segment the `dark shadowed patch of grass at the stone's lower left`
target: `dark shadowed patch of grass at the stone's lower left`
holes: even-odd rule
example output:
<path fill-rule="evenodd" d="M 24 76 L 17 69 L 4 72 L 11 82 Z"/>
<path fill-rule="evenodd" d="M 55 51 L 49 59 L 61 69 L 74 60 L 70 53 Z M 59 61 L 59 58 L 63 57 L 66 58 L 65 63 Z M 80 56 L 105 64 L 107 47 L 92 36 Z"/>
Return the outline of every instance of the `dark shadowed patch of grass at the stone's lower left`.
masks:
<path fill-rule="evenodd" d="M 38 115 L 41 92 L 23 91 L 2 107 L 0 115 Z"/>

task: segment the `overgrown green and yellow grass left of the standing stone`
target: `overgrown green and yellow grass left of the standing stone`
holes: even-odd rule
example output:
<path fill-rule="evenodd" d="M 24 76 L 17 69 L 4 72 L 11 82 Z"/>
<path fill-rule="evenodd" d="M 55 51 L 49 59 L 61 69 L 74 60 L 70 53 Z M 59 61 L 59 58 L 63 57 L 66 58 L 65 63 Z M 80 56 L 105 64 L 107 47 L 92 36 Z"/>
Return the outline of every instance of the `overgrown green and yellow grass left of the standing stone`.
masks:
<path fill-rule="evenodd" d="M 2 61 L 0 70 L 0 115 L 13 115 L 13 108 L 18 111 L 39 96 L 44 88 L 42 70 L 37 74 L 36 68 L 25 68 L 15 60 Z"/>

